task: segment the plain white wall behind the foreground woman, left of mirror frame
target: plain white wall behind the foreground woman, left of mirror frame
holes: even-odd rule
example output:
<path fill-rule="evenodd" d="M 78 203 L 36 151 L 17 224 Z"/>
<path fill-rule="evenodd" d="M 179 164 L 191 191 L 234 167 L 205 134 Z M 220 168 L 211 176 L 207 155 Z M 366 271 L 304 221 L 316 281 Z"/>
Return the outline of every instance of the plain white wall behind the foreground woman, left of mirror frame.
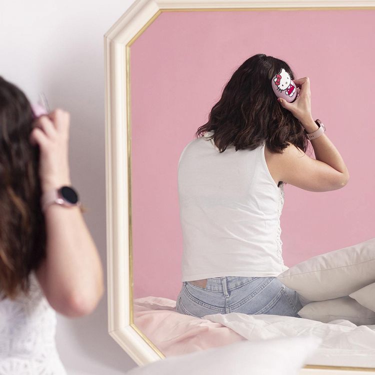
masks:
<path fill-rule="evenodd" d="M 105 263 L 103 34 L 131 0 L 0 0 L 0 75 L 32 101 L 70 112 L 70 170 Z M 57 348 L 69 374 L 118 375 L 135 362 L 107 333 L 106 295 L 89 316 L 58 316 Z"/>

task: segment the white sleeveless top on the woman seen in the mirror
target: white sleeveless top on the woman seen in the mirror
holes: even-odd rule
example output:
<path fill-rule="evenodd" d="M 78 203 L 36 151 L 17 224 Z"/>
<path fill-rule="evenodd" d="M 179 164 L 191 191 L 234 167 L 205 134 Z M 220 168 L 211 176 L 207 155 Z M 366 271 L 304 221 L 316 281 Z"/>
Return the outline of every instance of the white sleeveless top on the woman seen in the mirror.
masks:
<path fill-rule="evenodd" d="M 259 147 L 219 152 L 213 139 L 190 141 L 178 160 L 182 281 L 221 276 L 277 276 L 284 265 L 284 203 Z"/>

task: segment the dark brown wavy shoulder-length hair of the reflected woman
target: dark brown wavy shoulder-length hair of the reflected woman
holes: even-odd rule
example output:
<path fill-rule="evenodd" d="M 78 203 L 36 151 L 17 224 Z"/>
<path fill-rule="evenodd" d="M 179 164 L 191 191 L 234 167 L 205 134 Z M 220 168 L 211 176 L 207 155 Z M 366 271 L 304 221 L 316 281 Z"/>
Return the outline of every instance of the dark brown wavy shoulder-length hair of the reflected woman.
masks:
<path fill-rule="evenodd" d="M 308 136 L 301 122 L 278 102 L 271 86 L 272 77 L 281 68 L 294 79 L 283 60 L 258 53 L 245 60 L 223 88 L 221 98 L 212 107 L 208 122 L 195 132 L 207 131 L 220 152 L 232 145 L 235 150 L 254 149 L 265 140 L 272 152 L 282 152 L 287 142 L 308 147 Z"/>

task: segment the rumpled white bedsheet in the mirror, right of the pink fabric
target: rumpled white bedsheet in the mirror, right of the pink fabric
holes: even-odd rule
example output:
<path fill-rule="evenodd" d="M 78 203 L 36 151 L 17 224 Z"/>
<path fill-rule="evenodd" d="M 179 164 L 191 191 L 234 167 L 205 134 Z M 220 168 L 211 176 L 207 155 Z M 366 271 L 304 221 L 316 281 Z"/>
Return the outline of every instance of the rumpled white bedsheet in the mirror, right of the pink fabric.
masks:
<path fill-rule="evenodd" d="M 202 317 L 221 323 L 248 340 L 312 334 L 322 338 L 306 364 L 375 367 L 375 325 L 337 319 L 329 323 L 280 315 L 231 312 Z"/>

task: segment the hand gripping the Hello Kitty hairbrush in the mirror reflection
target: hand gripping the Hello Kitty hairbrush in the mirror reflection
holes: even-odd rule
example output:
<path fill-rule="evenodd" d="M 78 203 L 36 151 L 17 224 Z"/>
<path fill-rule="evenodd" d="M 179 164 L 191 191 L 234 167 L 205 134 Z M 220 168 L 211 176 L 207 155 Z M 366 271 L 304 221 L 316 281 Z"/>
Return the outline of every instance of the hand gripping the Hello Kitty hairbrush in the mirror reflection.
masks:
<path fill-rule="evenodd" d="M 295 118 L 301 121 L 302 125 L 313 122 L 311 115 L 311 92 L 310 80 L 308 77 L 293 79 L 296 89 L 299 90 L 298 97 L 292 102 L 288 103 L 286 100 L 278 98 L 277 101 L 283 108 L 289 110 Z M 281 99 L 281 100 L 280 100 Z"/>

